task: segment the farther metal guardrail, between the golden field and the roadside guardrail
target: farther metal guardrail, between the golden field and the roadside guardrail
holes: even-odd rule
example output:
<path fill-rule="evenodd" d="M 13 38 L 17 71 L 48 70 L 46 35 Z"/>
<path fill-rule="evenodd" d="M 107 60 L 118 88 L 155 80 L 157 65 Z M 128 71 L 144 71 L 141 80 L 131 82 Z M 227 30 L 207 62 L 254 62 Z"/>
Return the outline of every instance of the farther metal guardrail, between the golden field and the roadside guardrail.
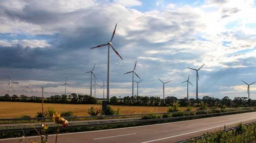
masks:
<path fill-rule="evenodd" d="M 162 115 L 166 113 L 185 113 L 185 112 L 199 112 L 199 111 L 213 111 L 213 110 L 229 110 L 229 109 L 245 109 L 245 108 L 256 108 L 256 107 L 240 107 L 240 108 L 225 108 L 225 109 L 209 109 L 209 110 L 194 110 L 194 111 L 179 111 L 179 112 L 160 112 L 160 113 L 151 113 L 153 115 Z M 133 116 L 143 116 L 148 115 L 149 113 L 139 113 L 139 114 L 130 114 L 130 115 L 108 115 L 108 116 L 81 116 L 81 117 L 64 117 L 65 119 L 83 119 L 83 118 L 113 118 L 113 117 L 133 117 Z M 43 120 L 49 120 L 50 117 L 45 117 Z M 10 118 L 10 119 L 0 119 L 0 121 L 15 121 L 15 120 L 41 120 L 41 118 Z"/>

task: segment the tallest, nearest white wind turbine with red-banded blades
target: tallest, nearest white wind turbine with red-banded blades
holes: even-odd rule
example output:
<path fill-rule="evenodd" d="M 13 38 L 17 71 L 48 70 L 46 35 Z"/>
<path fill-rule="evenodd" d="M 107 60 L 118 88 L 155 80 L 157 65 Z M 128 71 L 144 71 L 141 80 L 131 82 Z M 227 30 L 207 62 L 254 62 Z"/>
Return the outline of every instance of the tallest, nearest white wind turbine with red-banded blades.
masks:
<path fill-rule="evenodd" d="M 108 81 L 107 81 L 107 88 L 106 88 L 106 101 L 107 102 L 110 102 L 110 46 L 112 47 L 113 51 L 115 51 L 115 53 L 122 59 L 120 54 L 116 51 L 116 49 L 112 46 L 112 43 L 111 43 L 113 38 L 114 38 L 115 32 L 116 32 L 116 26 L 115 26 L 115 30 L 114 30 L 114 32 L 112 34 L 110 42 L 108 42 L 107 44 L 101 44 L 101 45 L 98 45 L 96 47 L 92 47 L 91 48 L 91 49 L 93 49 L 93 48 L 98 48 L 98 47 L 102 47 L 102 46 L 108 45 Z"/>

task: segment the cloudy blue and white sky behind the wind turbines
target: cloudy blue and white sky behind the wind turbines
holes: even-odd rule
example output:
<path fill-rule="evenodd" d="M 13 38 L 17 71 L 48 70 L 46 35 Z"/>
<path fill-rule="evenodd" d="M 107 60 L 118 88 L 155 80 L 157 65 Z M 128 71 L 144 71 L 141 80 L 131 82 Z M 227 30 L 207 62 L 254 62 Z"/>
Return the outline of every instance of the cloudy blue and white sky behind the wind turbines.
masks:
<path fill-rule="evenodd" d="M 0 96 L 90 95 L 93 69 L 106 84 L 110 49 L 110 97 L 132 95 L 132 71 L 143 79 L 140 96 L 248 97 L 241 80 L 256 81 L 256 1 L 252 0 L 0 0 Z M 135 76 L 134 80 L 140 79 Z M 94 80 L 93 80 L 94 83 Z M 134 83 L 137 94 L 137 84 Z M 106 94 L 106 89 L 105 89 Z M 94 96 L 94 90 L 93 90 Z M 103 97 L 97 87 L 96 98 Z M 250 85 L 256 99 L 256 83 Z"/>

